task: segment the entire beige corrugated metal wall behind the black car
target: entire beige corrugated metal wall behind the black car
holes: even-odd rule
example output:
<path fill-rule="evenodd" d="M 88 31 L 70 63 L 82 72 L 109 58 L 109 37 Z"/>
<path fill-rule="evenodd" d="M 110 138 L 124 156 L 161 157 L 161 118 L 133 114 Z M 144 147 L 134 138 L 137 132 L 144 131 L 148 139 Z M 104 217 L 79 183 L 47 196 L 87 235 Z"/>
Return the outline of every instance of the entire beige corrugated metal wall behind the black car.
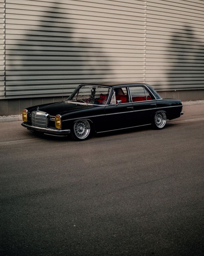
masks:
<path fill-rule="evenodd" d="M 6 97 L 69 94 L 81 82 L 204 88 L 203 23 L 200 0 L 6 0 Z"/>

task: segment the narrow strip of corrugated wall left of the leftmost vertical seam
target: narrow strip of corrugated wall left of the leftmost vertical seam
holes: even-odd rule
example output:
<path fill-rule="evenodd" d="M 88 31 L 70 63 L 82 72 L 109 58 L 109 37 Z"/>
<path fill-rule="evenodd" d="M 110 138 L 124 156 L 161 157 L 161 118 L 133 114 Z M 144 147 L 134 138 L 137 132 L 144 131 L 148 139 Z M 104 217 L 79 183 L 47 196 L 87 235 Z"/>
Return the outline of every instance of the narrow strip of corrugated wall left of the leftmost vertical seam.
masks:
<path fill-rule="evenodd" d="M 4 0 L 0 0 L 0 97 L 5 95 L 5 84 L 4 84 Z"/>

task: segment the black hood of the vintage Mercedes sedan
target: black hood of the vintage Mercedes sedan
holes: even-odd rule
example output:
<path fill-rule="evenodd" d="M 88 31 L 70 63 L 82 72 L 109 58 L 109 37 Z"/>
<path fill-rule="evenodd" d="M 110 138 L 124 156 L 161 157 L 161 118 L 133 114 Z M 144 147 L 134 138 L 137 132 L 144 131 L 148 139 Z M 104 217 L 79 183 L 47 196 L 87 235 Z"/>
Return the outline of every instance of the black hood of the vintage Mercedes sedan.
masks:
<path fill-rule="evenodd" d="M 65 101 L 55 102 L 50 104 L 39 105 L 39 110 L 48 113 L 49 115 L 63 115 L 68 114 L 70 112 L 76 112 L 79 110 L 85 110 L 90 108 L 95 108 L 95 105 L 85 105 L 85 104 L 74 104 L 68 103 Z M 35 106 L 33 110 L 35 110 L 37 106 Z"/>

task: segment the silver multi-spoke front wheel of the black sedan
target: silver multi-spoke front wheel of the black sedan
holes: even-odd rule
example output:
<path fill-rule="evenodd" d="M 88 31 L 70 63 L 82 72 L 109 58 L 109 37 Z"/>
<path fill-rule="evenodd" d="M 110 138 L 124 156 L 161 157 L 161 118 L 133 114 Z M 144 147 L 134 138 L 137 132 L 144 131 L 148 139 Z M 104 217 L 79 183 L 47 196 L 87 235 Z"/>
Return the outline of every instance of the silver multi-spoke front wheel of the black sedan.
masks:
<path fill-rule="evenodd" d="M 88 139 L 91 127 L 87 120 L 77 120 L 73 125 L 72 137 L 77 141 Z"/>

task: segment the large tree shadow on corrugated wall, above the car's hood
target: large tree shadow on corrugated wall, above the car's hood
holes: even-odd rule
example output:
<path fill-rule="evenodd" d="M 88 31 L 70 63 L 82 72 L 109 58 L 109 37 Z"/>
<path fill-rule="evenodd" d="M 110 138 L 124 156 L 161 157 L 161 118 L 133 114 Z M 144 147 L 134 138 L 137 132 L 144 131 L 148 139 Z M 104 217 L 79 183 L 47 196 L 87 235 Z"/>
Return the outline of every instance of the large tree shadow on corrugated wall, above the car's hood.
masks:
<path fill-rule="evenodd" d="M 79 83 L 108 79 L 111 68 L 103 46 L 98 40 L 91 43 L 84 31 L 75 29 L 60 4 L 43 13 L 35 8 L 33 12 L 31 20 L 22 25 L 29 32 L 18 35 L 7 51 L 7 88 L 28 96 L 70 95 Z M 37 23 L 33 17 L 39 13 L 43 18 Z"/>

